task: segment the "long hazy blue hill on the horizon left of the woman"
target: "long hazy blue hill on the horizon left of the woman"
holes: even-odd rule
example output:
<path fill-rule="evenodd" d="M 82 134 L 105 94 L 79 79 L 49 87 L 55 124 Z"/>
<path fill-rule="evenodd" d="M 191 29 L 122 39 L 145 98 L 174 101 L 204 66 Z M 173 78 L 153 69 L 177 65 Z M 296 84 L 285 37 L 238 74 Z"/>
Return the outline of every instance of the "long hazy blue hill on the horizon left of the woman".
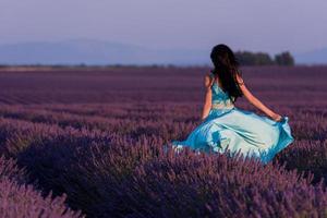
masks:
<path fill-rule="evenodd" d="M 0 64 L 205 64 L 209 51 L 150 49 L 93 39 L 0 46 Z"/>

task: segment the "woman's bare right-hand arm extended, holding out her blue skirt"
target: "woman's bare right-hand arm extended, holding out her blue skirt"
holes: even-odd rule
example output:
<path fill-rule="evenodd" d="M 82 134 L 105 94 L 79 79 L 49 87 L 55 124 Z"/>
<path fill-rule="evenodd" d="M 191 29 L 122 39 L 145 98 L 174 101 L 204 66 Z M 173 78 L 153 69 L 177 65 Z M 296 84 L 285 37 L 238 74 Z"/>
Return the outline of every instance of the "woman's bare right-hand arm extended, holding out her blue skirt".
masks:
<path fill-rule="evenodd" d="M 256 108 L 258 108 L 261 111 L 263 111 L 264 113 L 266 113 L 269 118 L 271 118 L 275 121 L 280 121 L 281 120 L 281 116 L 278 113 L 275 113 L 272 110 L 270 110 L 269 108 L 267 108 L 259 99 L 257 99 L 256 97 L 254 97 L 252 95 L 252 93 L 246 88 L 242 77 L 237 74 L 237 78 L 238 82 L 240 84 L 240 88 L 244 95 L 244 97 Z"/>

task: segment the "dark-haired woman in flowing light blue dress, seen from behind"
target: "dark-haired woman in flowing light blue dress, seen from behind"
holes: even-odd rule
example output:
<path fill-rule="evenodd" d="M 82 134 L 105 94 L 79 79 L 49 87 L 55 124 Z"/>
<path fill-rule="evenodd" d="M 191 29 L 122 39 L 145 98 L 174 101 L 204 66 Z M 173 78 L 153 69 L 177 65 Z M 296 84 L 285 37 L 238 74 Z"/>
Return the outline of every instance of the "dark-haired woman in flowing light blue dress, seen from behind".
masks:
<path fill-rule="evenodd" d="M 187 146 L 198 153 L 240 152 L 243 157 L 252 156 L 264 164 L 269 162 L 293 142 L 289 118 L 274 112 L 251 94 L 228 46 L 215 46 L 210 58 L 215 68 L 205 75 L 203 122 L 185 141 L 172 141 L 173 148 L 180 150 Z M 234 102 L 242 96 L 266 116 L 237 108 Z"/>

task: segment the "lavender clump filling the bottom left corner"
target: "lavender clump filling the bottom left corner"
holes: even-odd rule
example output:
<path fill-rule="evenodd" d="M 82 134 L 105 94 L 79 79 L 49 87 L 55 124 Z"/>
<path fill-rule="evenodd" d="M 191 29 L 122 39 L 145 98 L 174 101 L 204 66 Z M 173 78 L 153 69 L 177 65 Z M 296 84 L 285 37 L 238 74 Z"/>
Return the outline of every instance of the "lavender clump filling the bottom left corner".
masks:
<path fill-rule="evenodd" d="M 24 184 L 25 172 L 15 161 L 0 158 L 0 214 L 7 218 L 72 218 L 84 217 L 64 205 L 65 195 L 44 198 L 33 185 Z"/>

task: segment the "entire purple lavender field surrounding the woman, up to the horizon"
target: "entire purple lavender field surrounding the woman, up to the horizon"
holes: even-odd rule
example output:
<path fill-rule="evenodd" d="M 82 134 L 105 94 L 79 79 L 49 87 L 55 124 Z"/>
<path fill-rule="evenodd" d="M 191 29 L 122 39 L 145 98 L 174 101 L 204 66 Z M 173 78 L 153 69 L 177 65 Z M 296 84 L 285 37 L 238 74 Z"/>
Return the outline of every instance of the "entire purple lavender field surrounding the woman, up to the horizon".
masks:
<path fill-rule="evenodd" d="M 327 217 L 327 66 L 241 69 L 295 138 L 266 166 L 164 152 L 201 123 L 208 70 L 0 70 L 0 214 Z"/>

